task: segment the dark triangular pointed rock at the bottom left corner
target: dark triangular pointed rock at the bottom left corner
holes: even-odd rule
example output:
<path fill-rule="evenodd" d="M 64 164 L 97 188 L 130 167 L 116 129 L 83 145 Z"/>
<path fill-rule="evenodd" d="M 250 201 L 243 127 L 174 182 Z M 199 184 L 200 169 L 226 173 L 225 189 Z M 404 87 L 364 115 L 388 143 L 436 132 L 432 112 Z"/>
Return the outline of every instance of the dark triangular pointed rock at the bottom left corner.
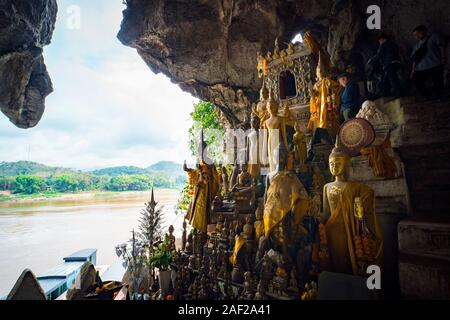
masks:
<path fill-rule="evenodd" d="M 46 300 L 44 290 L 29 269 L 25 269 L 6 300 Z"/>

